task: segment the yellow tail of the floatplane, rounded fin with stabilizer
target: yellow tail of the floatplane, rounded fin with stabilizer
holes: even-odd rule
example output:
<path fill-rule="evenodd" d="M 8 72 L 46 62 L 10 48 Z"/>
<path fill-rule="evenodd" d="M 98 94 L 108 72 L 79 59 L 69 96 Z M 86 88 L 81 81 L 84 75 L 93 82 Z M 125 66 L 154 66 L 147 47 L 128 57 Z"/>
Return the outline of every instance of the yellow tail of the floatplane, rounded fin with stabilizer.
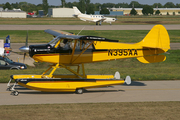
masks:
<path fill-rule="evenodd" d="M 146 37 L 137 44 L 143 47 L 143 57 L 137 58 L 140 62 L 162 62 L 166 60 L 166 56 L 159 54 L 170 49 L 169 34 L 164 26 L 156 25 Z"/>

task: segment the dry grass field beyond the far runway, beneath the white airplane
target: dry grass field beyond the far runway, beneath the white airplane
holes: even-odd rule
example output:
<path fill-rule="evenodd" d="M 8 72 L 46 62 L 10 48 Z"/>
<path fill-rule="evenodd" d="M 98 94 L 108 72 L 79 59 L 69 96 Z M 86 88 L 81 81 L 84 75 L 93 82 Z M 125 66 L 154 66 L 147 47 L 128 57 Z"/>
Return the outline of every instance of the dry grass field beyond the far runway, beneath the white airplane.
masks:
<path fill-rule="evenodd" d="M 1 18 L 1 25 L 94 25 L 78 18 Z M 103 23 L 108 24 L 108 23 Z M 119 16 L 114 25 L 180 24 L 180 16 Z"/>

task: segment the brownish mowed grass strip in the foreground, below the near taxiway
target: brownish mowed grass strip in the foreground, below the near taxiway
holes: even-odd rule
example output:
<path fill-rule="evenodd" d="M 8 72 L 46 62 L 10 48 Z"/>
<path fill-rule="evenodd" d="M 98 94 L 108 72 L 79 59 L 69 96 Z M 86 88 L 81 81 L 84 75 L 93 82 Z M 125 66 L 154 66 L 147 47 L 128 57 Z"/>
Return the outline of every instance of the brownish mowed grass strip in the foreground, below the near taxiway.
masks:
<path fill-rule="evenodd" d="M 2 120 L 178 120 L 180 102 L 2 105 Z"/>

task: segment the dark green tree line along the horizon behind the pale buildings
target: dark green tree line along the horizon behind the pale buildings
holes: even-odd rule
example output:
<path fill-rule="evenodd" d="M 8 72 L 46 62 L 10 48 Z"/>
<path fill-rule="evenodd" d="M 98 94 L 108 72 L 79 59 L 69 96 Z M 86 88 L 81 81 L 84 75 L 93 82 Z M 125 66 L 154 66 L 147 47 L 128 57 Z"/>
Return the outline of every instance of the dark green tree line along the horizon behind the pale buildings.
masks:
<path fill-rule="evenodd" d="M 144 5 L 140 4 L 137 1 L 131 1 L 130 4 L 128 3 L 91 3 L 90 0 L 79 0 L 79 2 L 66 2 L 65 0 L 59 1 L 59 3 L 62 3 L 61 5 L 49 5 L 47 0 L 42 0 L 42 4 L 31 4 L 28 2 L 16 2 L 10 4 L 9 2 L 6 2 L 5 4 L 0 4 L 0 7 L 8 8 L 9 10 L 15 9 L 21 9 L 25 12 L 32 12 L 32 11 L 38 11 L 44 10 L 44 13 L 47 14 L 48 8 L 59 8 L 59 7 L 66 7 L 66 8 L 72 8 L 73 6 L 78 7 L 78 9 L 82 13 L 86 14 L 94 14 L 94 11 L 104 10 L 104 8 L 144 8 L 147 6 L 150 6 L 151 8 L 180 8 L 180 4 L 174 4 L 173 2 L 167 2 L 166 4 L 162 5 L 161 3 L 154 3 L 153 5 Z M 101 12 L 102 13 L 102 12 Z"/>

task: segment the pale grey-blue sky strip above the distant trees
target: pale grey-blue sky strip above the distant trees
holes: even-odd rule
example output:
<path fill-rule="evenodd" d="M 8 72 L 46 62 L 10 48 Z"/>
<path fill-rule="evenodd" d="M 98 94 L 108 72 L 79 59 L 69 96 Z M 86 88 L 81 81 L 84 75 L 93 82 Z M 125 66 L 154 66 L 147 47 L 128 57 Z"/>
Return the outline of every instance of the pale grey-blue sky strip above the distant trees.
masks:
<path fill-rule="evenodd" d="M 66 2 L 78 2 L 79 0 L 65 0 Z M 140 4 L 148 4 L 153 5 L 154 3 L 161 3 L 164 5 L 167 2 L 173 2 L 174 4 L 180 4 L 180 0 L 91 0 L 91 3 L 130 3 L 131 1 L 137 1 Z M 42 0 L 0 0 L 0 4 L 9 2 L 16 3 L 16 2 L 28 2 L 32 4 L 42 4 Z M 61 5 L 61 0 L 48 0 L 49 5 Z"/>

